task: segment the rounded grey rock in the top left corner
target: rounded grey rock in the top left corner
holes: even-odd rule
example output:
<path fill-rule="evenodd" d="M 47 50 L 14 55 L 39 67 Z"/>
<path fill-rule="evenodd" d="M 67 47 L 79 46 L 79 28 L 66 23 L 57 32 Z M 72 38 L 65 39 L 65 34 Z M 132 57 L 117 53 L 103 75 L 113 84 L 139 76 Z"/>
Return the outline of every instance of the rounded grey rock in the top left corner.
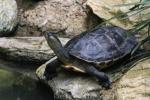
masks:
<path fill-rule="evenodd" d="M 0 0 L 0 36 L 12 35 L 18 22 L 17 12 L 15 0 Z"/>

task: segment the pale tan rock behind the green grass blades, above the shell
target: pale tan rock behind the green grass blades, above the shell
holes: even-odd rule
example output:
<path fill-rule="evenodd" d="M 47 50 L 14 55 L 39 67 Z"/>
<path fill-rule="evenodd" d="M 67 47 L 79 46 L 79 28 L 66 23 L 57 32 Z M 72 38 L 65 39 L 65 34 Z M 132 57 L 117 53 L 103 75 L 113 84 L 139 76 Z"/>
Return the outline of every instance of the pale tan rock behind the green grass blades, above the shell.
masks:
<path fill-rule="evenodd" d="M 93 13 L 100 18 L 108 20 L 116 15 L 124 14 L 125 16 L 130 16 L 127 19 L 113 19 L 110 22 L 116 26 L 122 27 L 124 29 L 130 29 L 133 25 L 136 24 L 139 20 L 148 19 L 149 16 L 144 16 L 145 12 L 149 12 L 150 9 L 147 11 L 142 11 L 141 13 L 137 14 L 136 16 L 132 16 L 133 13 L 125 14 L 126 12 L 130 11 L 134 5 L 130 6 L 122 6 L 122 7 L 115 7 L 114 5 L 119 4 L 127 4 L 127 3 L 137 3 L 140 0 L 87 0 L 87 6 L 89 6 Z"/>

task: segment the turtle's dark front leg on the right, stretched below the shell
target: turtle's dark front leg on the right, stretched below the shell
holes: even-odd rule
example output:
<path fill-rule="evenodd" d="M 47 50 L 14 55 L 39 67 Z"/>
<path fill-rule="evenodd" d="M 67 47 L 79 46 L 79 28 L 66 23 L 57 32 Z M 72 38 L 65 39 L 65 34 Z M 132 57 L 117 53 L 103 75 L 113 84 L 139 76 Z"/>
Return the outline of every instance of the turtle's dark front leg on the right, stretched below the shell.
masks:
<path fill-rule="evenodd" d="M 94 66 L 88 66 L 86 67 L 86 73 L 98 78 L 100 84 L 106 89 L 110 88 L 111 86 L 110 79 L 104 72 L 98 71 Z"/>

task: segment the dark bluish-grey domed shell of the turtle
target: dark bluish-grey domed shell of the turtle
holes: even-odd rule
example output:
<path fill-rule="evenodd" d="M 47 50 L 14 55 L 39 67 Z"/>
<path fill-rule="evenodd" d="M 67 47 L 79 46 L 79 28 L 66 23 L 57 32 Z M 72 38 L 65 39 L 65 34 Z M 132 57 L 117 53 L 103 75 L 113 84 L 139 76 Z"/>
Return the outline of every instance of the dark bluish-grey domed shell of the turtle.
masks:
<path fill-rule="evenodd" d="M 78 59 L 100 65 L 123 58 L 136 44 L 136 38 L 128 37 L 124 29 L 107 26 L 74 37 L 65 48 Z"/>

